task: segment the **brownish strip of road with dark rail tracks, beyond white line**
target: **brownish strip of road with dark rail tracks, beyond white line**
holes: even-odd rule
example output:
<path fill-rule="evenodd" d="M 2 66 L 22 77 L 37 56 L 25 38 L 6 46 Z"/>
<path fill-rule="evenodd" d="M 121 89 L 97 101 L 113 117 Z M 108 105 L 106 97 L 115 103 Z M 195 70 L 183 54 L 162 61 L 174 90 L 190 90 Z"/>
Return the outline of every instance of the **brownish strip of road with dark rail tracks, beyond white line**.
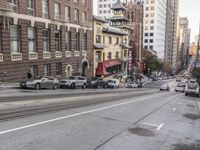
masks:
<path fill-rule="evenodd" d="M 6 119 L 14 119 L 25 117 L 33 114 L 69 109 L 80 106 L 94 105 L 109 101 L 117 101 L 122 98 L 140 97 L 158 93 L 158 90 L 135 91 L 135 92 L 118 92 L 118 93 L 103 93 L 98 95 L 89 95 L 79 97 L 51 98 L 38 100 L 20 100 L 19 104 L 16 101 L 0 103 L 0 121 Z M 12 105 L 13 104 L 13 105 Z M 8 107 L 10 106 L 10 107 Z"/>

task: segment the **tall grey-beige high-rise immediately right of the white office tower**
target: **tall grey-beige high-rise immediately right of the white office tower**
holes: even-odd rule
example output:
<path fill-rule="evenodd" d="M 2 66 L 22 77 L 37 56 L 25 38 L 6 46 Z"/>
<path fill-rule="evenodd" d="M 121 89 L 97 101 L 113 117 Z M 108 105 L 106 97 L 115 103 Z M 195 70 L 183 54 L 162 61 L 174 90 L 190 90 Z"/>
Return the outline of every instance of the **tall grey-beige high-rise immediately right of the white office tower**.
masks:
<path fill-rule="evenodd" d="M 178 53 L 178 10 L 179 0 L 167 0 L 166 34 L 165 34 L 165 62 L 170 65 L 172 72 L 177 70 Z"/>

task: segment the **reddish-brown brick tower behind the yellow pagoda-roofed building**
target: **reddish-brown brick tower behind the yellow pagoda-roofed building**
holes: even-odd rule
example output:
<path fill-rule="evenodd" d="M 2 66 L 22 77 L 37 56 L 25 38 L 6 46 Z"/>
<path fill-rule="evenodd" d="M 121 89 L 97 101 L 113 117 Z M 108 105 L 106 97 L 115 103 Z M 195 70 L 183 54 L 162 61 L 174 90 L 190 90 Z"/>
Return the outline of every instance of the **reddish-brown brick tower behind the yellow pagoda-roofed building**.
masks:
<path fill-rule="evenodd" d="M 131 1 L 124 3 L 125 16 L 129 19 L 128 26 L 132 29 L 130 33 L 130 45 L 132 46 L 133 64 L 141 67 L 143 63 L 143 3 L 142 1 Z"/>

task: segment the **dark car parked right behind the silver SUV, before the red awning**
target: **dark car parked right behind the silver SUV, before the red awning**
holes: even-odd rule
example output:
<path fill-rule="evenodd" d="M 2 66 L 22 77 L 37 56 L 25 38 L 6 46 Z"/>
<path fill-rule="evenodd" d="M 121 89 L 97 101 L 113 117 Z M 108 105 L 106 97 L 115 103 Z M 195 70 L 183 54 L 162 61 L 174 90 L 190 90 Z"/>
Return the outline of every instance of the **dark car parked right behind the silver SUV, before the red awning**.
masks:
<path fill-rule="evenodd" d="M 100 77 L 92 77 L 87 80 L 86 87 L 92 88 L 107 88 L 108 82 L 104 81 L 103 78 Z"/>

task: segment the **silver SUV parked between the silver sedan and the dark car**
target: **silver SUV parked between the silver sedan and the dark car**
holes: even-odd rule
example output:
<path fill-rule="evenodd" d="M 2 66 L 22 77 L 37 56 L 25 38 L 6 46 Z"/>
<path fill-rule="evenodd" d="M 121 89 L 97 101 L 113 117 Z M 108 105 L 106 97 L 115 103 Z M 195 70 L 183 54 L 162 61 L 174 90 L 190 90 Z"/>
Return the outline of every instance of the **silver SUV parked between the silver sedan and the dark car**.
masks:
<path fill-rule="evenodd" d="M 87 80 L 81 76 L 70 76 L 60 81 L 60 88 L 68 87 L 75 89 L 77 87 L 86 88 Z"/>

